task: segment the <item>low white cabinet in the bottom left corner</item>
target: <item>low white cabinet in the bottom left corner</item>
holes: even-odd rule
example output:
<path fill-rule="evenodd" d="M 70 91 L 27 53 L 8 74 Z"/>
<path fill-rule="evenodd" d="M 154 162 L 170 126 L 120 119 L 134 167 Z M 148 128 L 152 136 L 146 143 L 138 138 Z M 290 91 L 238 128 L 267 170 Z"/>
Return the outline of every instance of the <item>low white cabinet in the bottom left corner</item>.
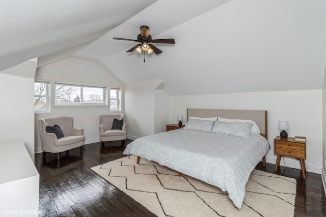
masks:
<path fill-rule="evenodd" d="M 23 142 L 0 141 L 0 216 L 38 216 L 39 185 Z"/>

